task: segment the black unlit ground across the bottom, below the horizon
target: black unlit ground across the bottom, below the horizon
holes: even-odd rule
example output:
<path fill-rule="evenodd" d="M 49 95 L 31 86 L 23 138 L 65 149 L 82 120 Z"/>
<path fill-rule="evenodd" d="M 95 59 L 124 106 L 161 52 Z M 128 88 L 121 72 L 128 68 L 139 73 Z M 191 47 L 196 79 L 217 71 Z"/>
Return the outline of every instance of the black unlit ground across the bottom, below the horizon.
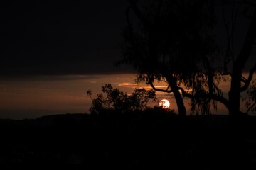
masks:
<path fill-rule="evenodd" d="M 256 167 L 256 118 L 171 113 L 0 120 L 1 164 L 223 169 Z"/>

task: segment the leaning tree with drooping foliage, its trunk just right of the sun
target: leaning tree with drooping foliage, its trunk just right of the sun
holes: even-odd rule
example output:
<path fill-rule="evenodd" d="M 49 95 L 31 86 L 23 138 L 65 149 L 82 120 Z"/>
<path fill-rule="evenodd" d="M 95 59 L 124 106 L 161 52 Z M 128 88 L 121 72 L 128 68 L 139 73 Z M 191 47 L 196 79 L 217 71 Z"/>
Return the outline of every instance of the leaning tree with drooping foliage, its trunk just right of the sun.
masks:
<path fill-rule="evenodd" d="M 202 81 L 206 73 L 199 67 L 205 64 L 202 61 L 206 57 L 215 55 L 210 34 L 214 23 L 210 1 L 152 1 L 144 13 L 137 1 L 129 0 L 129 4 L 122 60 L 117 65 L 130 64 L 137 69 L 137 81 L 146 81 L 155 91 L 173 93 L 182 117 L 186 116 L 183 96 L 192 99 L 192 111 L 210 106 L 210 100 L 201 88 L 206 86 Z M 129 17 L 131 11 L 138 18 L 137 26 Z M 215 77 L 215 74 L 211 76 Z M 155 81 L 165 81 L 167 89 L 156 88 Z M 184 88 L 192 89 L 192 94 L 186 93 Z M 215 86 L 211 89 L 216 96 L 220 94 Z M 199 97 L 203 98 L 201 102 L 196 100 Z M 209 107 L 203 107 L 203 110 L 208 112 Z"/>

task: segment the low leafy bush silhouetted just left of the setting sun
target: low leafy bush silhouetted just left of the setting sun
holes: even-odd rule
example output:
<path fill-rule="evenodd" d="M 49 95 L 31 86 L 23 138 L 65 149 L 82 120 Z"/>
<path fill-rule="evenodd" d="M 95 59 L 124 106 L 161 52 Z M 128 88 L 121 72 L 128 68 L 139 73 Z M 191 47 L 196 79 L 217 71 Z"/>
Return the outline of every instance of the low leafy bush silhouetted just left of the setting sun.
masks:
<path fill-rule="evenodd" d="M 92 91 L 88 90 L 87 95 L 92 98 Z M 156 93 L 153 90 L 134 89 L 131 95 L 113 88 L 111 84 L 102 86 L 102 93 L 92 99 L 91 113 L 105 113 L 106 111 L 143 111 L 149 101 L 156 101 Z"/>

